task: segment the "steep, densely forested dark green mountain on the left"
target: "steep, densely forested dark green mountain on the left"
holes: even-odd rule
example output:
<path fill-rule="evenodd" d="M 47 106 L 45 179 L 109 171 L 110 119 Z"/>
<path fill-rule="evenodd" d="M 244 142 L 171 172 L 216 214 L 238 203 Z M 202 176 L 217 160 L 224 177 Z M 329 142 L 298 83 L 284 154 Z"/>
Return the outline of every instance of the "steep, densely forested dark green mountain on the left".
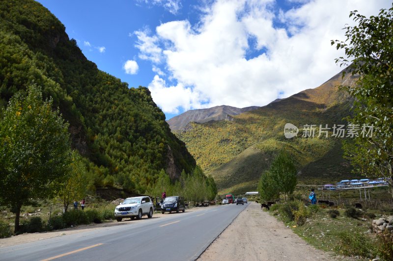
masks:
<path fill-rule="evenodd" d="M 116 182 L 143 193 L 163 169 L 176 178 L 196 167 L 149 90 L 98 70 L 40 3 L 0 2 L 0 50 L 0 113 L 14 94 L 41 86 L 70 124 L 89 188 Z"/>

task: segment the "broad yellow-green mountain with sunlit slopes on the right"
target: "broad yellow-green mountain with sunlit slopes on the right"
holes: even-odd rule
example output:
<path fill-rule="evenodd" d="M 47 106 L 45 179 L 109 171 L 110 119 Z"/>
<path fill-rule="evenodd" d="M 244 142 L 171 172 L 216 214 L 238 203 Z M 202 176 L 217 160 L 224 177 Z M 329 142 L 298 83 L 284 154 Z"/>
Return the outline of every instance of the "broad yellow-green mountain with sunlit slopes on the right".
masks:
<path fill-rule="evenodd" d="M 255 190 L 260 175 L 280 150 L 288 151 L 299 169 L 299 183 L 333 182 L 347 177 L 350 167 L 342 157 L 343 139 L 303 138 L 304 125 L 346 124 L 352 99 L 340 84 L 356 77 L 341 73 L 321 86 L 307 89 L 255 110 L 233 116 L 232 121 L 190 123 L 176 135 L 183 140 L 197 164 L 212 175 L 219 193 Z M 284 137 L 284 126 L 299 127 L 297 137 Z M 203 138 L 202 138 L 203 137 Z"/>

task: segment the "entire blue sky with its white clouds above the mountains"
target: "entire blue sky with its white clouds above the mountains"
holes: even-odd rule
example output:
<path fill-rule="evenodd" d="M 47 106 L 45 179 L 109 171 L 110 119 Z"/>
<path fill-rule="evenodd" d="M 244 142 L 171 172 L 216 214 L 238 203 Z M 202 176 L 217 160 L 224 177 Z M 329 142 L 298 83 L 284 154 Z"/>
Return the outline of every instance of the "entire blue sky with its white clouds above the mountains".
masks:
<path fill-rule="evenodd" d="M 265 105 L 340 71 L 330 46 L 349 11 L 390 0 L 38 0 L 87 59 L 149 87 L 167 119 L 216 105 Z"/>

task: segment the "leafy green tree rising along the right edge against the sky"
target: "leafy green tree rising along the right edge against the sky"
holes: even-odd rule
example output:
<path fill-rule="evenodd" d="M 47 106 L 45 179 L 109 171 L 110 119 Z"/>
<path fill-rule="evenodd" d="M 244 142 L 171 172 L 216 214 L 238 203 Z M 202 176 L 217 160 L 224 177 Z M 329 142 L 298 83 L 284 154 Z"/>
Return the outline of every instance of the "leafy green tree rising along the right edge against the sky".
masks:
<path fill-rule="evenodd" d="M 347 66 L 360 78 L 355 85 L 344 86 L 354 97 L 354 114 L 348 121 L 359 129 L 354 142 L 344 145 L 357 173 L 385 177 L 393 196 L 393 4 L 378 16 L 352 11 L 356 26 L 345 26 L 345 41 L 332 40 L 346 58 L 336 63 Z M 372 130 L 372 132 L 370 131 Z"/>

